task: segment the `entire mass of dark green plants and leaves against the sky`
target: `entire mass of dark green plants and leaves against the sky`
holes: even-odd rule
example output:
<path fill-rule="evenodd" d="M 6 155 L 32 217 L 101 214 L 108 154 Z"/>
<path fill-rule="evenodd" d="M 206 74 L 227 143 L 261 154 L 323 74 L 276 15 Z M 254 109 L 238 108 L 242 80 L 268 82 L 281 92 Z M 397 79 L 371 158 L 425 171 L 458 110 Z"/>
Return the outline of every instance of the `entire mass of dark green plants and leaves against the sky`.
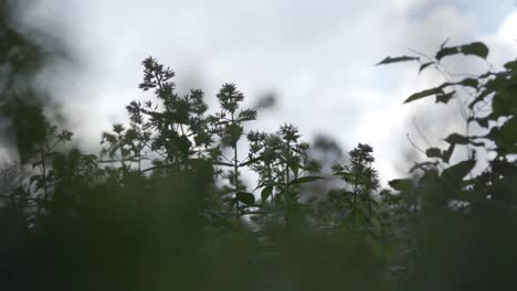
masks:
<path fill-rule="evenodd" d="M 329 161 L 318 161 L 296 127 L 246 132 L 257 114 L 242 108 L 234 84 L 222 86 L 220 109 L 209 115 L 203 91 L 179 95 L 173 71 L 152 57 L 143 62 L 139 88 L 154 99 L 126 107 L 129 122 L 103 133 L 99 154 L 74 148 L 72 132 L 53 125 L 43 93 L 29 85 L 38 67 L 20 65 L 44 57 L 43 50 L 10 26 L 1 3 L 0 112 L 19 154 L 0 169 L 2 290 L 515 285 L 516 61 L 405 100 L 467 98 L 462 114 L 478 129 L 452 132 L 447 149 L 428 149 L 430 161 L 391 188 L 380 186 L 369 144 L 341 159 L 335 142 L 318 139 L 315 149 L 337 159 L 331 174 L 340 183 L 328 191 L 308 186 L 326 183 L 321 165 Z M 380 64 L 420 62 L 420 71 L 444 72 L 443 60 L 456 54 L 486 58 L 488 48 L 444 44 L 425 62 L 415 55 Z M 471 159 L 451 164 L 458 148 Z M 493 158 L 474 174 L 481 155 Z M 244 171 L 257 177 L 253 187 Z M 304 198 L 314 195 L 318 202 Z"/>

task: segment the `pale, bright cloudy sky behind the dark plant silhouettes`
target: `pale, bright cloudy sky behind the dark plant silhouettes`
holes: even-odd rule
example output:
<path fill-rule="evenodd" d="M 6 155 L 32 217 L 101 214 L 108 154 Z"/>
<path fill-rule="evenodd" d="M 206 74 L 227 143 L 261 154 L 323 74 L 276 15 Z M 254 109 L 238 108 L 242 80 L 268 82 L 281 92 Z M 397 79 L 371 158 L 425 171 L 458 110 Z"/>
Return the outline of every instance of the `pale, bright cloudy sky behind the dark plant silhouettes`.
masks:
<path fill-rule="evenodd" d="M 432 100 L 402 106 L 437 75 L 376 63 L 409 48 L 433 54 L 445 39 L 487 43 L 496 67 L 517 54 L 514 0 L 35 0 L 23 22 L 72 56 L 40 83 L 64 105 L 84 149 L 97 149 L 102 131 L 127 121 L 126 104 L 150 97 L 138 84 L 140 62 L 151 55 L 176 71 L 180 91 L 202 88 L 211 106 L 224 83 L 235 83 L 247 106 L 274 94 L 276 107 L 261 111 L 253 129 L 291 122 L 306 140 L 325 133 L 345 150 L 370 143 L 383 181 L 404 175 L 408 159 L 425 158 L 408 133 L 422 148 L 443 144 L 461 122 L 457 108 Z M 486 65 L 463 61 L 452 66 Z"/>

